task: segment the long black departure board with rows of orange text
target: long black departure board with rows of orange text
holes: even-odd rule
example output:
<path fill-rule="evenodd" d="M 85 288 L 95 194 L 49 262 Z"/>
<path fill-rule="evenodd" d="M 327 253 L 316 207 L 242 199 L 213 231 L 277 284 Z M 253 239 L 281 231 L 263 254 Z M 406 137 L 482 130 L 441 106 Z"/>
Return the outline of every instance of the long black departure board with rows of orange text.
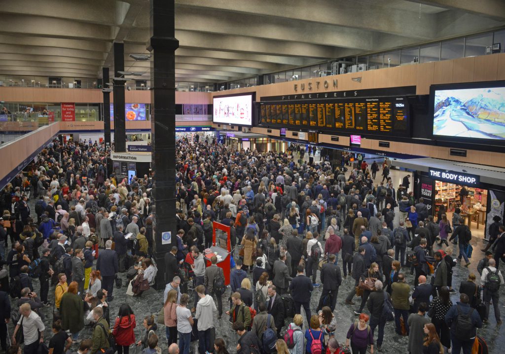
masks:
<path fill-rule="evenodd" d="M 262 102 L 264 125 L 331 133 L 408 137 L 406 97 L 365 97 Z"/>

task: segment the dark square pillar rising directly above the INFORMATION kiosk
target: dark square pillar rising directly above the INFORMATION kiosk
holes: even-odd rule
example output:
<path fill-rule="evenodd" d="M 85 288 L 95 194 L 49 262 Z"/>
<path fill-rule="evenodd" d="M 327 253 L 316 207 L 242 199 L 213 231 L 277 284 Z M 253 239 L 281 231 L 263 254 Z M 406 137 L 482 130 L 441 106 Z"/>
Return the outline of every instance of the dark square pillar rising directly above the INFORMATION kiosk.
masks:
<path fill-rule="evenodd" d="M 122 77 L 118 71 L 125 70 L 124 43 L 114 43 L 114 77 Z M 114 80 L 114 151 L 126 151 L 126 118 L 124 81 Z"/>

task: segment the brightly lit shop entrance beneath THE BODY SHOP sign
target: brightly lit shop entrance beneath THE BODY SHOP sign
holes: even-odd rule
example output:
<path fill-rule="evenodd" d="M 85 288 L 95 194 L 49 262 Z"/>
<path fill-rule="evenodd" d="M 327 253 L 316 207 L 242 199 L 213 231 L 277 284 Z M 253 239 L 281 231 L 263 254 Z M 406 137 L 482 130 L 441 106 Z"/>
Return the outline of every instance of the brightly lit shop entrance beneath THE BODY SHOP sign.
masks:
<path fill-rule="evenodd" d="M 472 235 L 484 238 L 486 224 L 487 189 L 460 186 L 453 183 L 435 181 L 435 217 L 444 208 L 447 219 L 452 220 L 452 213 L 458 207 L 465 224 Z"/>

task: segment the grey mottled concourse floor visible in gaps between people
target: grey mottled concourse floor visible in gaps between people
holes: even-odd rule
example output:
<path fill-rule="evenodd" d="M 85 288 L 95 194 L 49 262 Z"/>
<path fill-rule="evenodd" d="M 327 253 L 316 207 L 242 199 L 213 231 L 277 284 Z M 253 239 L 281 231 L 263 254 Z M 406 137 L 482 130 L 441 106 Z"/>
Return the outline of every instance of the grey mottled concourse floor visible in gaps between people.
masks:
<path fill-rule="evenodd" d="M 307 154 L 306 154 L 307 156 Z M 319 156 L 316 155 L 316 161 L 319 160 Z M 391 176 L 393 178 L 393 185 L 398 186 L 399 181 L 403 178 L 403 176 L 406 174 L 406 171 L 398 171 L 398 170 L 391 170 Z M 411 174 L 412 175 L 412 174 Z M 378 176 L 377 176 L 378 180 Z M 377 181 L 376 180 L 376 181 Z M 380 182 L 380 181 L 378 181 Z M 412 185 L 411 185 L 412 186 Z M 31 198 L 29 201 L 30 204 L 30 209 L 32 211 L 32 214 L 34 217 L 35 216 L 35 208 L 34 208 L 34 199 Z M 395 220 L 394 225 L 397 225 L 397 220 Z M 323 247 L 324 247 L 324 241 L 322 241 Z M 472 239 L 471 244 L 474 247 L 474 252 L 473 256 L 470 259 L 471 264 L 468 268 L 464 267 L 465 262 L 458 262 L 458 264 L 455 266 L 453 269 L 453 287 L 458 291 L 460 284 L 463 280 L 466 280 L 468 277 L 468 274 L 470 272 L 473 272 L 477 274 L 477 264 L 481 258 L 483 258 L 483 254 L 480 251 L 481 248 L 484 247 L 484 243 L 481 238 L 474 237 Z M 453 246 L 452 244 L 449 243 L 449 245 Z M 10 245 L 9 245 L 10 247 Z M 453 252 L 453 257 L 456 258 L 457 256 L 457 246 L 453 247 L 454 251 Z M 236 255 L 238 257 L 238 255 Z M 341 257 L 339 257 L 338 264 L 341 266 Z M 503 264 L 503 262 L 500 262 L 500 264 Z M 500 265 L 500 269 L 502 272 L 505 272 L 505 267 Z M 410 284 L 413 284 L 413 276 L 410 275 L 410 272 L 408 269 L 405 270 L 408 282 Z M 249 277 L 251 278 L 252 275 L 251 273 L 248 273 Z M 155 318 L 157 317 L 156 315 L 159 313 L 159 311 L 162 309 L 162 302 L 163 302 L 163 289 L 157 290 L 156 292 L 149 294 L 148 296 L 142 296 L 142 297 L 131 297 L 127 296 L 125 294 L 126 292 L 126 273 L 119 273 L 119 276 L 123 279 L 123 287 L 118 289 L 116 286 L 114 286 L 114 301 L 112 301 L 109 306 L 110 306 L 110 317 L 111 321 L 114 321 L 117 314 L 118 310 L 121 304 L 127 303 L 131 306 L 133 309 L 133 312 L 136 316 L 136 323 L 137 326 L 134 330 L 135 332 L 135 337 L 138 340 L 141 336 L 141 333 L 144 332 L 144 328 L 142 326 L 142 320 L 145 316 L 148 316 L 150 314 L 155 314 Z M 319 272 L 318 272 L 318 277 L 317 281 L 320 282 L 319 279 Z M 39 294 L 39 289 L 40 289 L 40 284 L 38 279 L 33 280 L 33 285 L 34 285 L 34 291 Z M 338 291 L 338 296 L 337 296 L 337 305 L 335 308 L 334 315 L 337 317 L 337 330 L 336 330 L 336 339 L 338 340 L 339 343 L 343 344 L 345 342 L 345 336 L 347 333 L 347 330 L 349 326 L 354 323 L 355 320 L 357 320 L 357 317 L 354 315 L 354 310 L 358 309 L 360 305 L 361 299 L 358 297 L 354 298 L 354 302 L 356 305 L 354 306 L 349 306 L 344 304 L 345 297 L 347 296 L 347 293 L 351 290 L 351 288 L 354 287 L 354 279 L 351 279 L 350 276 L 347 276 L 346 279 L 342 279 L 342 284 L 340 286 L 340 289 Z M 503 304 L 503 292 L 505 289 L 503 286 L 501 287 L 500 293 L 500 310 L 504 311 L 504 304 Z M 314 311 L 317 307 L 317 304 L 319 302 L 319 298 L 322 293 L 322 286 L 315 288 L 313 291 L 312 295 L 312 300 L 311 300 L 311 310 Z M 231 324 L 229 322 L 228 316 L 224 314 L 227 310 L 229 310 L 228 307 L 228 297 L 230 296 L 230 290 L 228 289 L 226 293 L 223 295 L 223 317 L 221 319 L 217 319 L 217 314 L 215 315 L 215 327 L 216 327 L 216 337 L 223 337 L 227 343 L 228 350 L 230 353 L 236 352 L 236 344 L 237 344 L 237 335 L 232 331 L 231 329 Z M 455 294 L 451 294 L 451 300 L 453 303 L 456 303 L 456 301 L 459 301 L 459 292 Z M 53 303 L 54 302 L 54 287 L 49 288 L 49 302 Z M 190 304 L 192 304 L 192 301 L 190 301 Z M 12 305 L 16 305 L 16 300 L 12 300 Z M 366 308 L 366 307 L 365 307 Z M 45 316 L 44 324 L 45 324 L 45 338 L 46 338 L 46 343 L 48 342 L 48 339 L 53 336 L 52 331 L 51 331 L 51 319 L 52 319 L 52 311 L 53 307 L 48 307 L 48 308 L 42 308 L 41 312 Z M 304 331 L 307 329 L 307 322 L 305 319 L 305 314 L 303 313 L 304 311 L 302 310 L 302 317 L 304 318 Z M 366 313 L 368 313 L 368 310 L 365 310 Z M 494 319 L 493 310 L 492 310 L 492 305 L 491 305 L 491 311 L 490 311 L 490 316 L 489 316 L 489 322 L 483 326 L 482 329 L 478 330 L 478 335 L 483 337 L 488 346 L 489 346 L 489 352 L 490 353 L 500 353 L 503 352 L 503 350 L 500 350 L 499 348 L 505 347 L 505 326 L 497 326 L 496 321 Z M 166 342 L 166 336 L 165 336 L 165 326 L 164 325 L 158 325 L 159 328 L 157 330 L 157 334 L 160 337 L 160 346 L 163 350 L 163 352 L 166 352 L 167 350 L 167 342 Z M 9 333 L 12 335 L 14 330 L 13 324 L 9 324 Z M 84 329 L 81 331 L 79 338 L 85 339 L 85 338 L 90 338 L 92 333 L 92 327 L 84 327 Z M 375 333 L 375 340 L 377 339 L 377 333 Z M 194 341 L 191 343 L 191 351 L 190 352 L 197 352 L 197 341 Z M 401 337 L 397 335 L 394 331 L 394 321 L 393 322 L 388 322 L 385 327 L 385 335 L 384 335 L 384 342 L 382 345 L 383 352 L 387 354 L 405 354 L 407 352 L 407 344 L 408 344 L 408 337 Z M 72 345 L 72 350 L 77 350 L 77 344 Z M 194 350 L 194 351 L 193 351 Z M 130 353 L 131 354 L 138 354 L 140 353 L 141 350 L 138 347 L 131 347 L 130 348 Z"/>

